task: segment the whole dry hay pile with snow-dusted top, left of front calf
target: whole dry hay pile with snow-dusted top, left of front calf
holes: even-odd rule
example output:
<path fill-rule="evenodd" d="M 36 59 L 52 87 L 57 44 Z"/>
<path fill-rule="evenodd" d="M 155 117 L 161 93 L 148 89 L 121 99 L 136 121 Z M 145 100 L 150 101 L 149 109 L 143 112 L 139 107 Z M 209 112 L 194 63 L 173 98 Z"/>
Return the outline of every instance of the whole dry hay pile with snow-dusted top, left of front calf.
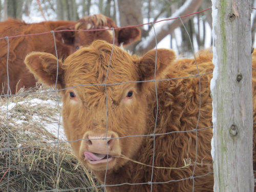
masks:
<path fill-rule="evenodd" d="M 40 93 L 42 88 L 33 91 Z M 76 160 L 69 143 L 61 142 L 65 141 L 65 136 L 58 125 L 60 107 L 57 101 L 55 93 L 11 97 L 7 120 L 7 98 L 0 97 L 0 191 L 7 191 L 7 186 L 8 191 L 17 192 L 53 191 L 56 185 L 59 191 L 101 190 L 94 187 L 99 184 Z M 52 124 L 55 127 L 49 129 Z M 58 127 L 62 139 L 59 144 Z M 15 149 L 9 151 L 8 146 Z M 90 188 L 84 189 L 86 187 Z"/>

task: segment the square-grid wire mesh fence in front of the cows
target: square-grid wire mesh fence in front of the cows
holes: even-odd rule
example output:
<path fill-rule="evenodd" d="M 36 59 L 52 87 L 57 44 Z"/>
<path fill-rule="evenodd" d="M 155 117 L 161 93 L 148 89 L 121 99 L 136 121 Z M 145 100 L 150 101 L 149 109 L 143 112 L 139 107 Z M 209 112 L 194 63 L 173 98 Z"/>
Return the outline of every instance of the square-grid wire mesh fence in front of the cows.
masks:
<path fill-rule="evenodd" d="M 209 9 L 206 9 L 206 10 L 203 10 L 203 11 L 209 11 Z M 196 13 L 192 13 L 192 14 L 198 14 L 200 12 L 203 12 L 203 11 L 199 11 L 199 12 L 196 12 Z M 188 15 L 191 15 L 191 14 L 188 14 Z M 184 16 L 180 16 L 180 17 L 176 17 L 176 18 L 172 18 L 172 19 L 180 19 L 181 23 L 183 24 L 182 22 L 182 18 L 185 17 L 185 16 L 188 16 L 188 15 L 184 15 Z M 160 20 L 158 22 L 164 22 L 165 20 L 170 20 L 170 19 L 163 19 L 163 20 Z M 147 23 L 147 24 L 142 24 L 142 25 L 152 25 L 153 26 L 153 29 L 155 31 L 155 27 L 154 27 L 154 24 L 155 23 L 158 23 L 158 22 L 152 22 L 152 23 Z M 142 25 L 137 25 L 137 26 L 127 26 L 127 27 L 124 27 L 124 28 L 129 28 L 129 27 L 139 27 L 139 26 L 142 26 Z M 183 27 L 185 28 L 184 24 L 183 24 Z M 115 28 L 115 29 L 121 29 L 121 28 Z M 95 190 L 97 188 L 103 188 L 104 191 L 106 191 L 106 187 L 114 187 L 114 186 L 122 186 L 122 185 L 150 185 L 150 191 L 153 191 L 153 185 L 155 184 L 166 184 L 166 183 L 172 183 L 172 182 L 179 182 L 179 181 L 182 181 L 182 180 L 193 180 L 193 192 L 195 191 L 195 179 L 196 178 L 200 178 L 200 177 L 205 177 L 205 176 L 208 176 L 208 175 L 213 175 L 213 172 L 209 171 L 207 174 L 204 174 L 204 175 L 200 175 L 200 176 L 196 176 L 195 175 L 195 170 L 196 170 L 196 165 L 200 162 L 198 162 L 198 159 L 197 159 L 197 156 L 198 156 L 198 132 L 199 131 L 203 131 L 203 130 L 208 130 L 208 129 L 212 129 L 212 126 L 208 126 L 208 127 L 203 127 L 203 128 L 199 128 L 199 121 L 200 121 L 200 113 L 201 113 L 201 77 L 202 76 L 206 76 L 206 75 L 210 75 L 212 73 L 212 71 L 210 72 L 206 72 L 206 73 L 200 73 L 199 69 L 198 69 L 198 63 L 197 63 L 197 59 L 196 59 L 196 56 L 195 56 L 195 51 L 193 49 L 193 44 L 191 42 L 191 37 L 189 37 L 190 39 L 190 45 L 191 45 L 191 50 L 193 50 L 193 54 L 194 54 L 194 59 L 195 59 L 195 65 L 197 67 L 197 73 L 194 74 L 194 75 L 190 75 L 190 76 L 186 76 L 186 77 L 175 77 L 175 78 L 166 78 L 166 79 L 157 79 L 156 77 L 156 73 L 157 73 L 157 58 L 158 58 L 158 48 L 157 48 L 157 38 L 156 38 L 156 32 L 155 32 L 155 38 L 156 38 L 156 57 L 155 57 L 155 70 L 154 70 L 154 78 L 150 79 L 150 80 L 140 80 L 140 81 L 125 81 L 125 82 L 120 82 L 120 83 L 106 83 L 106 80 L 108 78 L 108 73 L 109 73 L 109 69 L 111 67 L 111 60 L 112 60 L 112 57 L 113 57 L 113 51 L 114 51 L 114 45 L 115 45 L 115 30 L 114 28 L 111 28 L 111 29 L 100 29 L 100 30 L 111 30 L 113 32 L 113 47 L 112 47 L 112 52 L 111 52 L 111 55 L 110 55 L 110 60 L 109 60 L 109 65 L 108 65 L 108 70 L 106 71 L 106 75 L 105 75 L 105 80 L 104 80 L 104 83 L 98 83 L 98 84 L 77 84 L 76 86 L 74 87 L 68 87 L 68 88 L 65 88 L 65 89 L 57 89 L 57 79 L 58 79 L 58 68 L 59 68 L 59 63 L 58 63 L 58 59 L 57 59 L 57 74 L 56 74 L 56 82 L 55 82 L 55 89 L 54 90 L 49 90 L 49 91 L 41 91 L 41 92 L 29 92 L 29 93 L 18 93 L 18 94 L 10 94 L 10 91 L 9 91 L 9 87 L 8 87 L 8 91 L 7 91 L 7 94 L 3 95 L 5 98 L 6 98 L 6 129 L 7 129 L 7 145 L 4 147 L 4 148 L 1 148 L 0 149 L 0 152 L 8 152 L 9 155 L 8 155 L 8 160 L 7 160 L 7 164 L 6 164 L 6 167 L 3 167 L 2 171 L 3 173 L 1 173 L 2 175 L 2 178 L 0 178 L 1 180 L 4 178 L 4 177 L 8 177 L 8 180 L 7 180 L 7 183 L 5 184 L 5 186 L 2 186 L 2 188 L 4 188 L 4 190 L 6 191 L 10 191 L 9 189 L 9 181 L 12 179 L 11 178 L 11 172 L 12 172 L 12 164 L 11 164 L 11 158 L 14 158 L 12 157 L 12 151 L 19 151 L 19 150 L 23 150 L 23 149 L 26 149 L 26 148 L 34 148 L 34 147 L 40 147 L 40 146 L 44 146 L 44 147 L 48 147 L 48 146 L 51 146 L 51 145 L 56 145 L 56 151 L 55 153 L 57 153 L 57 161 L 56 161 L 56 167 L 57 167 L 57 170 L 56 170 L 56 177 L 55 179 L 55 184 L 54 184 L 54 187 L 53 189 L 51 190 L 38 190 L 38 191 L 76 191 L 76 190 Z M 186 30 L 186 28 L 185 28 Z M 58 52 L 57 52 L 57 47 L 56 47 L 56 40 L 55 40 L 55 33 L 61 33 L 63 31 L 81 31 L 81 32 L 88 32 L 88 31 L 99 31 L 99 30 L 61 30 L 61 31 L 50 31 L 50 32 L 47 32 L 47 33 L 52 33 L 53 37 L 54 37 L 54 45 L 55 45 L 55 52 L 56 52 L 56 57 L 58 58 Z M 189 36 L 188 32 L 186 31 L 187 35 Z M 16 36 L 10 36 L 10 37 L 5 37 L 5 38 L 0 38 L 0 40 L 5 40 L 7 42 L 7 76 L 8 76 L 8 85 L 9 85 L 9 72 L 8 72 L 8 69 L 9 69 L 9 65 L 11 65 L 11 63 L 9 63 L 9 40 L 11 38 L 19 38 L 19 37 L 24 37 L 24 36 L 31 36 L 31 35 L 43 35 L 43 34 L 46 34 L 46 33 L 38 33 L 38 34 L 27 34 L 27 35 L 16 35 Z M 169 80 L 175 80 L 175 79 L 186 79 L 186 78 L 198 78 L 199 80 L 199 105 L 198 105 L 198 108 L 199 108 L 199 111 L 198 111 L 198 115 L 197 115 L 197 124 L 195 125 L 194 129 L 191 129 L 191 130 L 187 130 L 187 131 L 172 131 L 172 132 L 166 132 L 166 133 L 156 133 L 156 128 L 157 128 L 157 123 L 158 123 L 158 119 L 159 119 L 159 103 L 158 103 L 158 89 L 157 89 L 157 83 L 160 82 L 160 81 L 169 81 Z M 145 134 L 145 135 L 125 135 L 125 136 L 122 136 L 122 137 L 115 137 L 115 138 L 108 138 L 108 130 L 110 129 L 108 127 L 108 121 L 110 121 L 110 119 L 108 118 L 108 109 L 109 109 L 109 106 L 108 106 L 108 92 L 107 92 L 107 88 L 109 86 L 117 86 L 117 85 L 120 85 L 120 84 L 125 84 L 125 83 L 142 83 L 142 82 L 154 82 L 155 83 L 155 97 L 156 97 L 156 119 L 155 119 L 155 125 L 154 125 L 154 132 L 151 133 L 151 134 Z M 36 144 L 30 144 L 30 145 L 27 145 L 27 146 L 19 146 L 17 145 L 17 147 L 11 147 L 11 143 L 10 143 L 10 130 L 9 130 L 9 127 L 10 127 L 10 122 L 9 122 L 9 115 L 10 115 L 10 109 L 9 109 L 9 106 L 10 106 L 10 99 L 11 98 L 14 98 L 14 97 L 17 97 L 17 96 L 28 96 L 28 95 L 40 95 L 40 94 L 55 94 L 54 97 L 58 98 L 58 95 L 57 93 L 60 92 L 60 91 L 64 91 L 64 90 L 68 90 L 68 89 L 72 89 L 72 88 L 77 88 L 77 87 L 87 87 L 87 86 L 102 86 L 104 87 L 104 91 L 105 91 L 105 95 L 106 95 L 106 103 L 105 103 L 105 111 L 106 111 L 106 114 L 105 114 L 105 137 L 104 138 L 101 138 L 101 140 L 105 140 L 106 141 L 106 149 L 107 149 L 107 154 L 106 154 L 106 158 L 109 159 L 109 152 L 108 152 L 108 139 L 124 139 L 124 138 L 134 138 L 134 137 L 148 137 L 148 138 L 153 138 L 153 154 L 152 154 L 152 164 L 151 165 L 146 165 L 146 166 L 150 166 L 152 167 L 152 171 L 151 171 L 151 180 L 150 181 L 146 181 L 146 182 L 139 182 L 139 183 L 115 183 L 115 184 L 108 184 L 106 179 L 107 179 L 107 173 L 109 172 L 108 170 L 108 162 L 109 161 L 106 161 L 106 169 L 105 169 L 105 176 L 104 176 L 104 181 L 102 184 L 97 184 L 97 185 L 94 185 L 94 186 L 91 186 L 91 187 L 81 187 L 81 186 L 76 186 L 76 187 L 73 187 L 73 188 L 67 188 L 67 189 L 59 189 L 59 180 L 58 178 L 60 177 L 60 172 L 61 172 L 61 168 L 60 168 L 60 164 L 62 162 L 62 158 L 65 158 L 65 157 L 62 157 L 62 154 L 60 153 L 60 145 L 61 144 L 65 144 L 65 143 L 72 143 L 72 142 L 77 142 L 77 141 L 82 141 L 82 140 L 99 140 L 98 138 L 95 138 L 95 139 L 87 139 L 87 138 L 82 138 L 82 139 L 78 139 L 78 140 L 71 140 L 71 141 L 63 141 L 63 140 L 59 140 L 59 132 L 60 132 L 60 124 L 61 124 L 61 103 L 59 102 L 59 99 L 56 99 L 56 102 L 57 102 L 57 105 L 56 105 L 56 108 L 58 109 L 58 129 L 57 129 L 57 138 L 56 138 L 56 141 L 51 141 L 51 142 L 44 142 L 44 143 L 36 143 Z M 195 158 L 195 162 L 191 163 L 191 165 L 193 165 L 193 173 L 191 174 L 190 177 L 187 177 L 187 178 L 182 178 L 182 179 L 179 179 L 179 180 L 169 180 L 169 181 L 162 181 L 162 182 L 154 182 L 154 169 L 156 169 L 157 167 L 155 167 L 155 139 L 156 137 L 158 136 L 164 136 L 164 135 L 170 135 L 170 134 L 176 134 L 176 133 L 195 133 L 195 137 L 196 137 L 196 148 L 195 148 L 195 151 L 196 151 L 196 156 L 194 157 Z M 13 146 L 13 145 L 12 145 Z M 138 162 L 137 162 L 138 163 Z M 186 166 L 186 165 L 185 165 Z M 161 167 L 161 168 L 180 168 L 180 167 Z M 254 171 L 255 172 L 255 171 Z M 23 176 L 23 177 L 26 177 L 26 176 Z M 56 179 L 57 178 L 57 179 Z M 1 184 L 1 181 L 0 181 L 0 184 Z"/>

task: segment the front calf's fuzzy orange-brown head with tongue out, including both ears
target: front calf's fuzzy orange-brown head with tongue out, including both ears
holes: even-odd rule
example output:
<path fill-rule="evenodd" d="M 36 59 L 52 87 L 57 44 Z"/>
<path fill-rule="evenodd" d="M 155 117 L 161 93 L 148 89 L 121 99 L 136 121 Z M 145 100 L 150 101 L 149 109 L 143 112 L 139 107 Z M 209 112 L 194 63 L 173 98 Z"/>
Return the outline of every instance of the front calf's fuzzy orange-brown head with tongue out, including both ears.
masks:
<path fill-rule="evenodd" d="M 126 136 L 147 133 L 148 102 L 155 94 L 155 82 L 143 81 L 154 79 L 156 50 L 138 58 L 115 46 L 110 62 L 111 51 L 111 44 L 97 40 L 64 62 L 58 61 L 57 89 L 62 94 L 65 133 L 69 141 L 75 141 L 71 145 L 79 160 L 94 170 L 105 169 L 107 162 L 109 169 L 116 169 L 127 161 L 120 155 L 137 155 L 144 137 Z M 157 55 L 156 79 L 160 79 L 175 53 L 158 49 Z M 55 56 L 39 52 L 25 59 L 35 77 L 52 87 L 56 61 Z"/>

